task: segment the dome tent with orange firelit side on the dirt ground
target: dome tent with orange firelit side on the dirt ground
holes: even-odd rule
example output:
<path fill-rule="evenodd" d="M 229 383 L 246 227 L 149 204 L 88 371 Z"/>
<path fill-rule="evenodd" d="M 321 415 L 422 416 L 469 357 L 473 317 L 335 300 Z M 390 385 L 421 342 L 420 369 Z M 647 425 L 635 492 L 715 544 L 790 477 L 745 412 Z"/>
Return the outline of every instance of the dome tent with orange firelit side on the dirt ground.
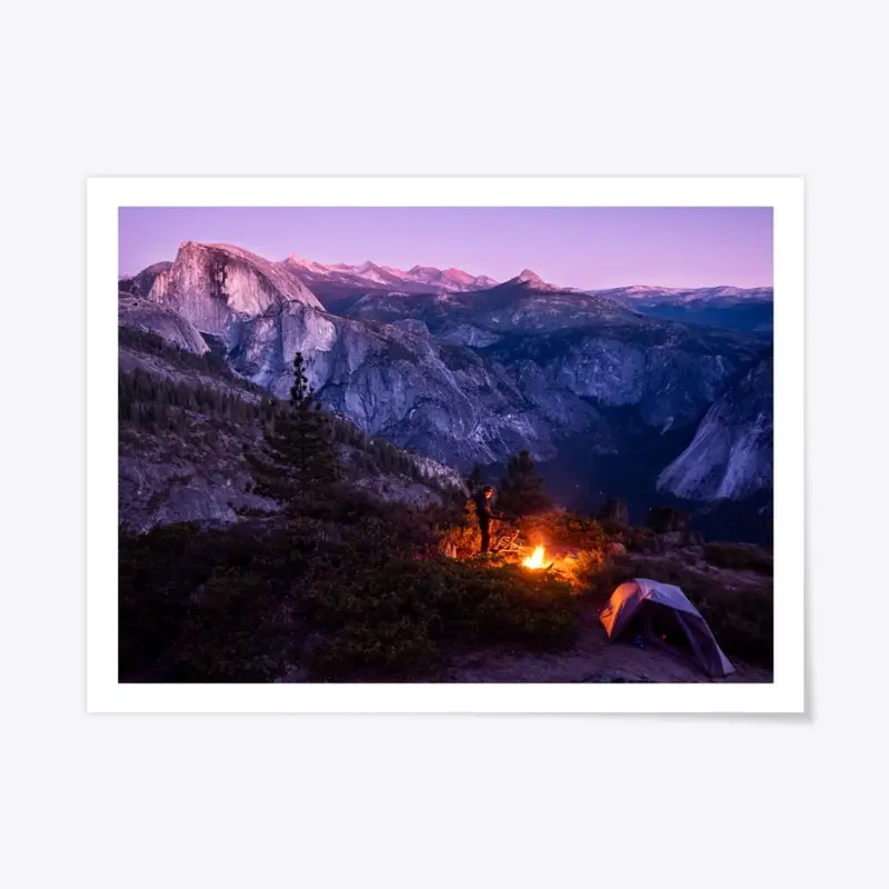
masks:
<path fill-rule="evenodd" d="M 735 672 L 707 621 L 679 587 L 643 577 L 628 580 L 611 593 L 599 620 L 612 641 L 628 631 L 641 632 L 687 655 L 710 677 Z"/>

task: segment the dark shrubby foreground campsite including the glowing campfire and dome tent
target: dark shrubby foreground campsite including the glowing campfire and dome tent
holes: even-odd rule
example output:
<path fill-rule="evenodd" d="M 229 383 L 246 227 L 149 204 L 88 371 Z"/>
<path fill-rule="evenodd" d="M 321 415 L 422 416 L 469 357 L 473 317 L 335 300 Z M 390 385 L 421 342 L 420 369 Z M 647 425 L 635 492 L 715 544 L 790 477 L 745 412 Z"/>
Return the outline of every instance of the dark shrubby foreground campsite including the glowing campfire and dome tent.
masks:
<path fill-rule="evenodd" d="M 339 497 L 283 522 L 123 532 L 122 680 L 771 681 L 765 548 L 550 506 L 495 520 L 482 556 L 471 499 Z"/>

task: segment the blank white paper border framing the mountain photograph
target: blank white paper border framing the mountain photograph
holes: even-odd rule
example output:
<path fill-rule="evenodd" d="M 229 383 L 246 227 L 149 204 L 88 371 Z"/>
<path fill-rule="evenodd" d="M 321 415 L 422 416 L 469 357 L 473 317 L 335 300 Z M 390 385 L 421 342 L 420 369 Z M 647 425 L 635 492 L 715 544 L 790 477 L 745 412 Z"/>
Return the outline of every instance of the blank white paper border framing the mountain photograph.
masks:
<path fill-rule="evenodd" d="M 775 681 L 771 685 L 121 685 L 117 681 L 119 207 L 772 207 Z M 87 182 L 89 712 L 783 712 L 803 696 L 801 178 L 93 178 Z"/>

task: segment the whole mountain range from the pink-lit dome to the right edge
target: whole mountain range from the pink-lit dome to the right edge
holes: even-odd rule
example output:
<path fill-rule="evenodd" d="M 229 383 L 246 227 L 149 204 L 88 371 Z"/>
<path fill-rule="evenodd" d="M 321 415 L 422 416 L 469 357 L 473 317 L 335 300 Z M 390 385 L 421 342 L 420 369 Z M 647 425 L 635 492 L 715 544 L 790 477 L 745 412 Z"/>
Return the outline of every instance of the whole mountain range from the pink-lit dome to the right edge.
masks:
<path fill-rule="evenodd" d="M 581 290 L 528 269 L 497 282 L 186 241 L 119 292 L 122 327 L 216 349 L 279 397 L 302 352 L 333 413 L 460 470 L 522 448 L 546 461 L 571 440 L 615 456 L 646 438 L 663 442 L 661 492 L 737 500 L 771 486 L 771 376 L 758 370 L 770 289 Z M 753 307 L 756 323 L 739 322 Z"/>

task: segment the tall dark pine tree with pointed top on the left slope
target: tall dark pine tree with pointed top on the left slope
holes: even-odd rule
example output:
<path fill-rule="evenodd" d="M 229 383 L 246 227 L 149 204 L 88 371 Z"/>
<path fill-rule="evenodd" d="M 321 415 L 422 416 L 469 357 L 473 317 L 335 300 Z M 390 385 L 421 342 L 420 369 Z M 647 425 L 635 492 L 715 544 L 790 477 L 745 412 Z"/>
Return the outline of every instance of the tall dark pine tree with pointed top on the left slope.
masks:
<path fill-rule="evenodd" d="M 274 412 L 259 448 L 246 457 L 256 493 L 277 500 L 289 512 L 299 512 L 340 479 L 332 424 L 309 387 L 300 352 L 293 357 L 290 401 Z"/>

